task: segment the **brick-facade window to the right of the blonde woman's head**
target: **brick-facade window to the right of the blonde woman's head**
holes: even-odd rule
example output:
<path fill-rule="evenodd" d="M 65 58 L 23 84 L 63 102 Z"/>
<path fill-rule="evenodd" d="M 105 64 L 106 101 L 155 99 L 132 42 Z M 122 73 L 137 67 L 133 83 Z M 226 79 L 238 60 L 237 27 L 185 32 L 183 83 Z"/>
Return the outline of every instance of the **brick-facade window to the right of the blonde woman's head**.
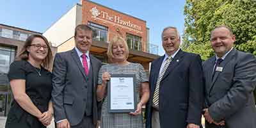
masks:
<path fill-rule="evenodd" d="M 127 33 L 126 35 L 127 45 L 129 49 L 133 49 L 136 51 L 141 51 L 141 37 L 136 35 L 131 35 Z"/>

